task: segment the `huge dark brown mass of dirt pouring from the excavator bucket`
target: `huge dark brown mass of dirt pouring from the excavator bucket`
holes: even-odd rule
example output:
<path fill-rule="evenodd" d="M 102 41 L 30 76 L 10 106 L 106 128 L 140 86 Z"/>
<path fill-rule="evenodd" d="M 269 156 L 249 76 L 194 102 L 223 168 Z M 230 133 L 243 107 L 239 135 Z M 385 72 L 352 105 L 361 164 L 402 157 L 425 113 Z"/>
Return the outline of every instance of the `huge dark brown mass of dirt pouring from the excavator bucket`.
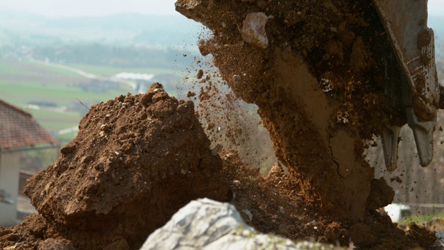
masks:
<path fill-rule="evenodd" d="M 371 1 L 179 0 L 176 10 L 213 32 L 200 52 L 257 105 L 309 210 L 341 222 L 364 249 L 411 247 L 375 215 L 394 192 L 364 160 L 366 140 L 406 123 L 399 97 L 385 94 L 400 85 L 400 69 Z M 325 238 L 338 231 L 330 226 Z"/>

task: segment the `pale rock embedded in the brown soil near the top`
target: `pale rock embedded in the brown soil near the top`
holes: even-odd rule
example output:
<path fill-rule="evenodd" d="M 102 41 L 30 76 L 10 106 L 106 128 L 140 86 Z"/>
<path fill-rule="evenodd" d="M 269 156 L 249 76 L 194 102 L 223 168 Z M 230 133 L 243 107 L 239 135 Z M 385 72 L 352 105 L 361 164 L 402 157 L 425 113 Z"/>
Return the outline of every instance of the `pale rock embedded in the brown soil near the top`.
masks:
<path fill-rule="evenodd" d="M 249 44 L 266 49 L 268 38 L 265 32 L 265 24 L 268 17 L 264 12 L 248 13 L 242 26 L 242 39 Z"/>

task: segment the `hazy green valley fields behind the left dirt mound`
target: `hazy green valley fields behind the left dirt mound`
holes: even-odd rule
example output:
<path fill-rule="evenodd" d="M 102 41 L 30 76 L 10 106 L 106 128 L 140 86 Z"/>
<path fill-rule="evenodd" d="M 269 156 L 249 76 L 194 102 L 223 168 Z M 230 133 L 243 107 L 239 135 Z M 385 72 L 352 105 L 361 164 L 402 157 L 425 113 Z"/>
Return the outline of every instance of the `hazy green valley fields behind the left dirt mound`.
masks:
<path fill-rule="evenodd" d="M 121 72 L 120 69 L 106 67 L 90 67 L 94 72 L 89 72 L 88 69 L 89 66 L 83 65 L 82 70 L 92 74 L 100 71 Z M 76 85 L 89 81 L 91 80 L 65 69 L 27 61 L 0 60 L 0 99 L 31 113 L 37 122 L 64 144 L 74 139 L 76 133 L 58 135 L 58 131 L 78 126 L 87 109 L 62 112 L 60 107 L 79 105 L 79 101 L 92 106 L 114 99 L 120 94 L 135 94 L 135 90 L 123 84 L 104 92 L 87 92 Z M 56 103 L 57 107 L 29 108 L 29 101 L 51 101 Z"/>

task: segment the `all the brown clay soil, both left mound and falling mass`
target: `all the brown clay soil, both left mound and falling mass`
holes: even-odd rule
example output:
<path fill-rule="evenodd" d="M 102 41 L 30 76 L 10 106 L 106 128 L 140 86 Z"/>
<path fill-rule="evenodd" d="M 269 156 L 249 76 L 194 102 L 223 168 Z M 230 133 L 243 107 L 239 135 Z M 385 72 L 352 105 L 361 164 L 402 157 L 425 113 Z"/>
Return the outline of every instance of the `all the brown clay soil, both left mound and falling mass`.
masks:
<path fill-rule="evenodd" d="M 40 215 L 0 228 L 0 247 L 138 249 L 180 207 L 208 197 L 233 203 L 258 231 L 292 240 L 434 249 L 433 232 L 404 231 L 377 212 L 393 190 L 373 178 L 364 140 L 405 117 L 384 95 L 382 65 L 398 66 L 370 1 L 214 0 L 185 11 L 188 3 L 176 6 L 214 33 L 201 52 L 214 56 L 237 97 L 259 107 L 289 172 L 275 163 L 262 176 L 235 151 L 210 149 L 203 127 L 214 124 L 200 124 L 194 103 L 155 83 L 92 106 L 56 163 L 28 181 Z M 241 38 L 250 12 L 268 16 L 266 49 Z M 203 84 L 200 99 L 214 83 Z"/>

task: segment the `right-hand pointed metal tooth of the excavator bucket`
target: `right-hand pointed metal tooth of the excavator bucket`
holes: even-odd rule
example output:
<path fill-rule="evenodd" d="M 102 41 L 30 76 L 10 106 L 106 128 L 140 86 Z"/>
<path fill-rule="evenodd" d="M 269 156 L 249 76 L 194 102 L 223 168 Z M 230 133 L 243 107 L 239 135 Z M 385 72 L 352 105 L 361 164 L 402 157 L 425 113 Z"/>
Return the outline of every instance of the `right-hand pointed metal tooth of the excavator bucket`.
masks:
<path fill-rule="evenodd" d="M 419 122 L 413 108 L 407 108 L 407 121 L 413 131 L 420 165 L 427 167 L 433 159 L 433 132 L 436 126 L 436 115 L 432 121 Z"/>

